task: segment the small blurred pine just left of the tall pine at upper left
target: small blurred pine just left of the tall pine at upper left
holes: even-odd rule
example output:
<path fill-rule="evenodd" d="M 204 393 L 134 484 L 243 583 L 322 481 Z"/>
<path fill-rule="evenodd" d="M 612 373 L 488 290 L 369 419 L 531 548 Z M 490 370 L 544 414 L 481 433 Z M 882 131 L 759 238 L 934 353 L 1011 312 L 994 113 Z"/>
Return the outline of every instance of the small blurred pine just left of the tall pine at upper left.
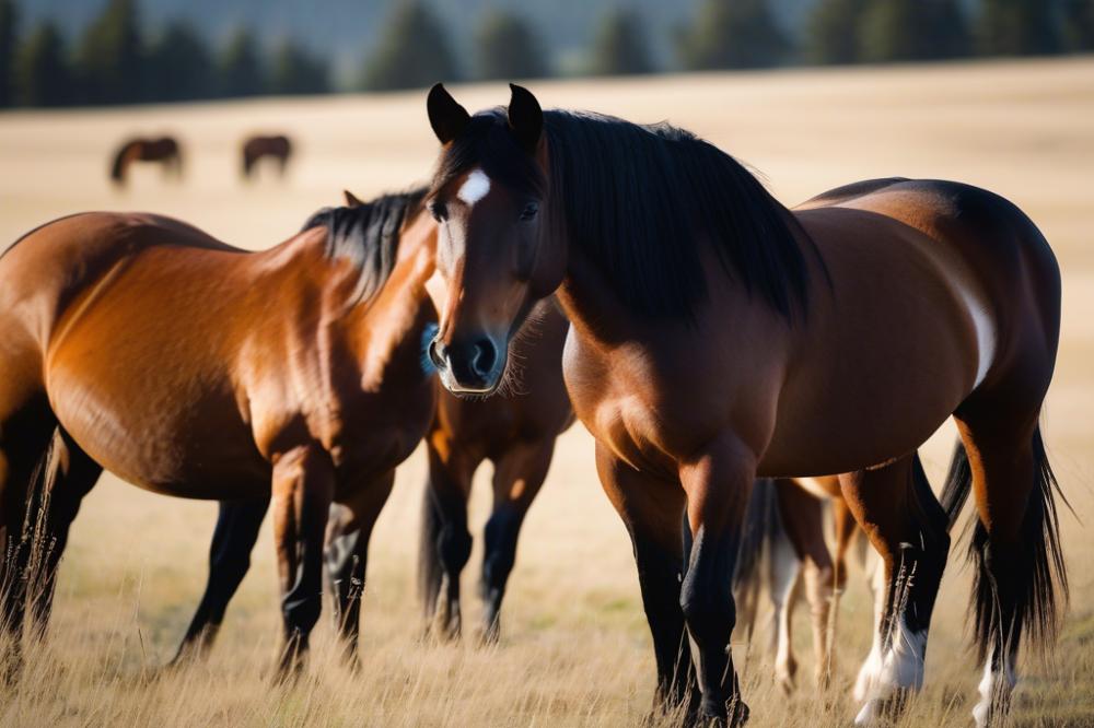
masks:
<path fill-rule="evenodd" d="M 15 101 L 23 106 L 67 106 L 74 103 L 68 49 L 51 22 L 39 25 L 15 56 Z"/>

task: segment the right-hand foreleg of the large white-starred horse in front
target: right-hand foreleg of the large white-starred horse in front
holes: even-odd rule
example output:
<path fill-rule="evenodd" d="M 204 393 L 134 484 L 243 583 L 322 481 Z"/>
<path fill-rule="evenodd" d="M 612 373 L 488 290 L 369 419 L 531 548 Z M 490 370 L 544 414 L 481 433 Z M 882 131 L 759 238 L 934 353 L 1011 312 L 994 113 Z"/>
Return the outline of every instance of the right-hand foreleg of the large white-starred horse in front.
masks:
<path fill-rule="evenodd" d="M 748 718 L 730 638 L 736 622 L 734 572 L 756 456 L 726 433 L 680 467 L 693 547 L 680 607 L 696 643 L 703 718 L 740 725 Z"/>

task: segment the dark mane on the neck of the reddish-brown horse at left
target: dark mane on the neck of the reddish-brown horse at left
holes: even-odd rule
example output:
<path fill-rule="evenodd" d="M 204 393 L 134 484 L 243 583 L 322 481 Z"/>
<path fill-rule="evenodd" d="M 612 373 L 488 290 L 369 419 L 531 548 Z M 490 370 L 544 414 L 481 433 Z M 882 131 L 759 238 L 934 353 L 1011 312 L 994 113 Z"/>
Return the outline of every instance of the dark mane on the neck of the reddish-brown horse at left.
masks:
<path fill-rule="evenodd" d="M 426 188 L 383 195 L 363 204 L 323 208 L 301 232 L 327 228 L 326 255 L 353 262 L 360 271 L 354 302 L 368 302 L 387 281 L 395 267 L 403 223 L 421 209 Z"/>

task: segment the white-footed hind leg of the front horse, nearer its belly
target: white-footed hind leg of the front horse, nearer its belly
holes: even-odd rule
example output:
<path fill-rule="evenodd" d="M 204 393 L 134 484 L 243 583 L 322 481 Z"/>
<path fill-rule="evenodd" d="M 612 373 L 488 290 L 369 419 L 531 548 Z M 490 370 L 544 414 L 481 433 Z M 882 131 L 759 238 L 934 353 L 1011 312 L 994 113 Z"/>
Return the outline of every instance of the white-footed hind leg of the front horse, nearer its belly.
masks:
<path fill-rule="evenodd" d="M 918 456 L 840 475 L 843 497 L 882 557 L 874 645 L 856 683 L 858 725 L 896 717 L 923 682 L 931 613 L 950 550 L 948 519 Z"/>

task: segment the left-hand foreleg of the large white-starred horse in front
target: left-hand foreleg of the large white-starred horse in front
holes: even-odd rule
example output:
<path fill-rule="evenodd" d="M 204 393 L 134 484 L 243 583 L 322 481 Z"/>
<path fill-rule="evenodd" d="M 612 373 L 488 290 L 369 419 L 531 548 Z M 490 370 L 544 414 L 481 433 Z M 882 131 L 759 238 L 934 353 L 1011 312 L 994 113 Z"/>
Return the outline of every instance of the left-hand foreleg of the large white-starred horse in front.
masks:
<path fill-rule="evenodd" d="M 680 608 L 684 492 L 677 481 L 639 472 L 601 445 L 596 446 L 596 471 L 635 549 L 642 606 L 653 635 L 657 667 L 654 713 L 680 712 L 690 717 L 699 686 Z M 731 576 L 732 572 L 725 573 L 728 585 Z"/>

